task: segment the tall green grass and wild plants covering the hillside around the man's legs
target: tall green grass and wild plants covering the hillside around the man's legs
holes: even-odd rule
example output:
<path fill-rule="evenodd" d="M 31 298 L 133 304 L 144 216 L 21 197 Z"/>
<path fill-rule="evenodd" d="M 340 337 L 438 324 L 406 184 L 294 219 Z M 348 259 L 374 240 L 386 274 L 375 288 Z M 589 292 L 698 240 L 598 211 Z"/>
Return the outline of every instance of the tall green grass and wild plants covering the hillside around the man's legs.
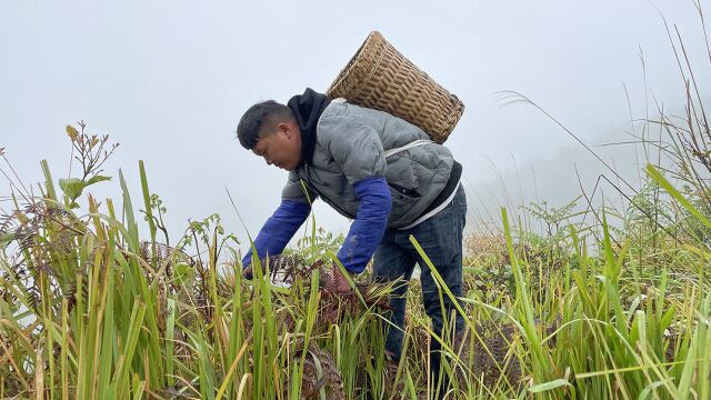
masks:
<path fill-rule="evenodd" d="M 685 116 L 660 110 L 637 136 L 665 162 L 645 167 L 624 209 L 502 209 L 500 230 L 467 239 L 465 330 L 435 339 L 448 398 L 711 398 L 711 131 L 682 76 Z M 391 364 L 390 288 L 365 272 L 352 297 L 319 290 L 319 261 L 342 238 L 311 220 L 297 249 L 254 259 L 264 271 L 246 281 L 217 214 L 170 244 L 142 162 L 138 208 L 121 172 L 120 206 L 88 194 L 111 180 L 101 168 L 116 146 L 79 128 L 67 128 L 79 177 L 54 181 L 43 161 L 39 196 L 0 149 L 13 188 L 0 219 L 0 398 L 420 399 L 440 384 L 417 280 Z"/>

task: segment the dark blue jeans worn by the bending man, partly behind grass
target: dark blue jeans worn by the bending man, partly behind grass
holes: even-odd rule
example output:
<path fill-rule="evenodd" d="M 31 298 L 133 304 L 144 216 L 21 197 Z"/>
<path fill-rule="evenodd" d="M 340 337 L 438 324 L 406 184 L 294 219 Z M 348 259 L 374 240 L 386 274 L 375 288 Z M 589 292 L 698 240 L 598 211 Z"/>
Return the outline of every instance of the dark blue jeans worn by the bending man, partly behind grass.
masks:
<path fill-rule="evenodd" d="M 422 301 L 424 310 L 432 320 L 433 331 L 440 334 L 443 326 L 442 309 L 450 316 L 454 310 L 452 300 L 434 283 L 434 278 L 427 263 L 422 260 L 414 246 L 410 242 L 410 236 L 420 243 L 432 264 L 440 273 L 449 290 L 455 297 L 462 296 L 462 232 L 467 220 L 467 197 L 460 187 L 450 204 L 435 216 L 407 230 L 388 229 L 375 250 L 373 257 L 373 276 L 377 280 L 403 279 L 398 284 L 390 299 L 391 311 L 389 320 L 395 329 L 390 327 L 385 340 L 385 350 L 394 360 L 402 354 L 402 338 L 404 330 L 405 293 L 408 281 L 412 277 L 415 262 L 420 266 L 422 283 Z M 451 321 L 450 319 L 448 319 Z M 463 318 L 457 313 L 455 328 L 463 328 Z M 432 373 L 439 372 L 440 344 L 437 340 L 430 341 L 430 366 Z"/>

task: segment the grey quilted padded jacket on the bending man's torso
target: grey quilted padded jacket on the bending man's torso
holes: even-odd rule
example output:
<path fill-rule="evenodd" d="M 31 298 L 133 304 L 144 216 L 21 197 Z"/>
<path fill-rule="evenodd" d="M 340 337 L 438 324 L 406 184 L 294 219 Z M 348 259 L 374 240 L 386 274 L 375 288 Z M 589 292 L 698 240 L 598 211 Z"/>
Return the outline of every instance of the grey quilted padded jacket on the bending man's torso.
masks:
<path fill-rule="evenodd" d="M 282 199 L 310 202 L 320 197 L 342 216 L 354 219 L 359 200 L 353 183 L 383 177 L 392 196 L 388 228 L 402 228 L 440 194 L 453 162 L 449 149 L 431 142 L 412 123 L 387 112 L 333 101 L 317 126 L 311 164 L 289 172 Z"/>

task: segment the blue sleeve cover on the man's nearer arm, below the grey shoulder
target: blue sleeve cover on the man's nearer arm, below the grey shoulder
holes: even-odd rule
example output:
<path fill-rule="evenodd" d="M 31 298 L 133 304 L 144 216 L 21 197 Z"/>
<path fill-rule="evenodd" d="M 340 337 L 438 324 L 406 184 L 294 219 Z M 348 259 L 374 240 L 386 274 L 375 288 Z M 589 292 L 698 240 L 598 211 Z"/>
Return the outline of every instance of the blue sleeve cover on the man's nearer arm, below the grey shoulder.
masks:
<path fill-rule="evenodd" d="M 385 233 L 392 198 L 384 178 L 365 178 L 356 182 L 353 188 L 360 207 L 338 259 L 350 272 L 360 273 Z"/>

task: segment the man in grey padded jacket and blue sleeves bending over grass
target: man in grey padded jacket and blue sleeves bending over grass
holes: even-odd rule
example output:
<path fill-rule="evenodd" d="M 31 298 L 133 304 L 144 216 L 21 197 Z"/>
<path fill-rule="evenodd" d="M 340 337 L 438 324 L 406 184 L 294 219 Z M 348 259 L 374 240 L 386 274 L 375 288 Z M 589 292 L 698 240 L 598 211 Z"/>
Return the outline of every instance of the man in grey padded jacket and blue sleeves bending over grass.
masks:
<path fill-rule="evenodd" d="M 322 199 L 353 219 L 338 259 L 352 274 L 373 258 L 375 279 L 403 279 L 390 300 L 385 350 L 397 361 L 402 352 L 407 281 L 421 267 L 422 300 L 434 332 L 442 330 L 442 310 L 454 309 L 440 293 L 427 263 L 410 242 L 413 236 L 451 290 L 462 294 L 462 231 L 467 199 L 460 188 L 461 166 L 420 128 L 389 113 L 331 101 L 307 89 L 287 106 L 264 101 L 252 106 L 237 128 L 240 143 L 269 166 L 289 171 L 282 200 L 254 240 L 260 259 L 279 254 L 306 221 L 311 201 Z M 304 184 L 302 184 L 302 182 Z M 306 189 L 304 189 L 306 188 Z M 242 260 L 251 276 L 251 250 Z M 350 290 L 339 268 L 330 290 Z M 455 328 L 463 328 L 461 316 Z M 431 341 L 432 371 L 439 371 L 440 346 Z"/>

